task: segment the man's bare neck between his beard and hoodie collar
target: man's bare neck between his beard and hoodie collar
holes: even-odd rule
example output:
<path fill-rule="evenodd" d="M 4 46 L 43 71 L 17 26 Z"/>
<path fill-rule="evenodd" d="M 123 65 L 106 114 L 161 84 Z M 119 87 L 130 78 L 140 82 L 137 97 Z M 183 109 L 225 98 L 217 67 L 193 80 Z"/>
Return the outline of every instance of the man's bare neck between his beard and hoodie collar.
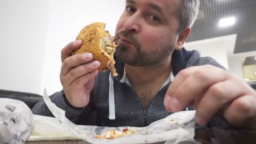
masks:
<path fill-rule="evenodd" d="M 165 81 L 171 73 L 171 56 L 158 64 L 147 67 L 133 67 L 125 64 L 125 73 L 131 85 Z"/>

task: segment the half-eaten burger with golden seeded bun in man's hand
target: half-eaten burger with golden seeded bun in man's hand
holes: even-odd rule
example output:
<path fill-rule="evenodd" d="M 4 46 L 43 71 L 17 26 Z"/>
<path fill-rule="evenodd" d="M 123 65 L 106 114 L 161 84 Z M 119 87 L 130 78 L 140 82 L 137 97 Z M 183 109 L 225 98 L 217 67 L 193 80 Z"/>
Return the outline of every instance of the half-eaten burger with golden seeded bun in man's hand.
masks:
<path fill-rule="evenodd" d="M 114 53 L 117 45 L 115 45 L 115 38 L 105 30 L 105 27 L 106 24 L 102 22 L 85 26 L 76 37 L 76 40 L 82 40 L 83 44 L 73 54 L 92 53 L 93 60 L 101 63 L 99 71 L 109 70 L 113 76 L 117 76 L 114 66 Z"/>

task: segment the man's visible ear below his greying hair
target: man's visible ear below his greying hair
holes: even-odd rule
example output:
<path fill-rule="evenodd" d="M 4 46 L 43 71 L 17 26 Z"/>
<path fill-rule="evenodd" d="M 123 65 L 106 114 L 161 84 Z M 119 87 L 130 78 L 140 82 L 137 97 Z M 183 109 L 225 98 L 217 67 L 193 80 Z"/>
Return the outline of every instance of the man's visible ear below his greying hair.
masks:
<path fill-rule="evenodd" d="M 191 31 L 191 28 L 186 27 L 185 29 L 178 32 L 178 40 L 177 40 L 177 43 L 175 45 L 175 50 L 181 50 L 181 48 L 183 47 L 187 37 L 189 36 L 190 31 Z"/>

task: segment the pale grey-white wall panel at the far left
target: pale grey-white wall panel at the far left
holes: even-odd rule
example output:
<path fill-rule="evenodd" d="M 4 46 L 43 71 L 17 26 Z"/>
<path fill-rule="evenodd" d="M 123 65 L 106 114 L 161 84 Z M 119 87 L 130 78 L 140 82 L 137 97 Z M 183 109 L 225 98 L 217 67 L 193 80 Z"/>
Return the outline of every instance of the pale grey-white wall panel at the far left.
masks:
<path fill-rule="evenodd" d="M 0 0 L 0 89 L 40 93 L 48 0 Z"/>

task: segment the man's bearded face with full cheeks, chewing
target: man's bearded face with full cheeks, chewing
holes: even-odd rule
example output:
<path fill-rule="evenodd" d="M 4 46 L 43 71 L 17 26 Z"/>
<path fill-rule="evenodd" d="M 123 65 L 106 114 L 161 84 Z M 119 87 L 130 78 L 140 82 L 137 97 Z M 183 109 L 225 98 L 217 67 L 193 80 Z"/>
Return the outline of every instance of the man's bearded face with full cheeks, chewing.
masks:
<path fill-rule="evenodd" d="M 158 64 L 176 45 L 179 0 L 126 0 L 117 23 L 116 56 L 132 66 Z"/>

